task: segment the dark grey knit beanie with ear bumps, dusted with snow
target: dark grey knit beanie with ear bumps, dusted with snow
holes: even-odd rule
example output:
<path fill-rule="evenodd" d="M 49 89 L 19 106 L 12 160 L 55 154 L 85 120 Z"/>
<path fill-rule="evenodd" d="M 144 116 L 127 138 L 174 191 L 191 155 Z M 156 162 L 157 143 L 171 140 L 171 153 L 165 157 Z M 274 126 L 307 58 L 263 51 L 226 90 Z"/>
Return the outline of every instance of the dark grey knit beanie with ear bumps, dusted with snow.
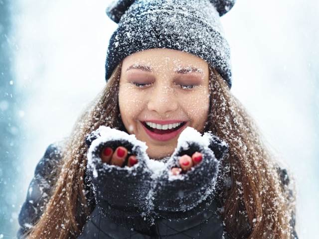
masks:
<path fill-rule="evenodd" d="M 230 49 L 220 16 L 236 0 L 114 0 L 106 9 L 118 28 L 106 57 L 106 80 L 127 56 L 151 48 L 188 52 L 205 60 L 231 88 Z"/>

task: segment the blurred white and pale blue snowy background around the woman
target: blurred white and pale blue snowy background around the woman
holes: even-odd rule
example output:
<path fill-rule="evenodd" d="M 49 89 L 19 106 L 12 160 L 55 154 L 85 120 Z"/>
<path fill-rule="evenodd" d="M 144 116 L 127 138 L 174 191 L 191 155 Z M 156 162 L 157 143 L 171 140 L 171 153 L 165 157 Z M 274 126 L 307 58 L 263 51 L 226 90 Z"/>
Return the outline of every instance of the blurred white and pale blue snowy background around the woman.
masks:
<path fill-rule="evenodd" d="M 109 2 L 0 0 L 0 239 L 15 238 L 46 147 L 105 84 Z M 318 0 L 238 0 L 222 17 L 231 91 L 297 179 L 301 239 L 319 225 L 318 15 Z"/>

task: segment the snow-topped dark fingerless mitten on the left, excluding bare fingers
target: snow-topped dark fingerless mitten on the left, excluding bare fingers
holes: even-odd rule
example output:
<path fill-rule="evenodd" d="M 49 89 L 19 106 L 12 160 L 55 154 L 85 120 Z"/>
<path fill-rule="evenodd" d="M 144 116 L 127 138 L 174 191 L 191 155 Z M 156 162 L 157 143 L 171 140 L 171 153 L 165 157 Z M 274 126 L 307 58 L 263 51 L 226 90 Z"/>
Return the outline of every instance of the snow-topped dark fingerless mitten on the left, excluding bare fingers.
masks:
<path fill-rule="evenodd" d="M 87 174 L 101 213 L 120 225 L 131 227 L 141 217 L 150 190 L 152 171 L 146 164 L 146 143 L 136 139 L 134 134 L 104 125 L 91 132 L 86 142 L 89 146 Z M 138 163 L 119 167 L 102 162 L 100 155 L 107 146 L 113 151 L 118 146 L 126 147 L 128 157 L 136 155 Z"/>

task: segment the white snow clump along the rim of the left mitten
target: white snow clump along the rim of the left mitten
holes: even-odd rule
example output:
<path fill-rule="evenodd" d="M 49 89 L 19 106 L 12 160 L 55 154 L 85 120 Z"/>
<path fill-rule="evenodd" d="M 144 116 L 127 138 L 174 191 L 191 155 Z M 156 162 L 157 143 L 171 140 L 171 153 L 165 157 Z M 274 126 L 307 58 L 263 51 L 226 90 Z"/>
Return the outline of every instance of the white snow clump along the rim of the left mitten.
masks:
<path fill-rule="evenodd" d="M 140 140 L 138 140 L 135 136 L 135 134 L 128 134 L 124 131 L 115 129 L 115 128 L 111 128 L 109 126 L 104 126 L 101 125 L 97 130 L 94 131 L 94 134 L 96 135 L 100 135 L 98 136 L 95 140 L 93 140 L 93 142 L 91 143 L 88 153 L 87 153 L 87 157 L 88 157 L 88 167 L 90 167 L 91 169 L 93 169 L 93 177 L 96 178 L 98 177 L 98 172 L 96 170 L 95 167 L 95 163 L 96 161 L 99 163 L 102 163 L 102 160 L 100 157 L 94 157 L 93 152 L 98 148 L 98 146 L 101 143 L 105 143 L 107 141 L 110 140 L 126 140 L 128 142 L 130 142 L 133 145 L 132 150 L 134 151 L 137 147 L 140 147 L 140 150 L 142 152 L 146 152 L 146 149 L 148 148 L 148 146 L 146 145 L 145 142 L 142 142 Z M 148 159 L 147 154 L 145 153 L 144 158 Z M 136 164 L 137 165 L 137 164 Z M 134 165 L 133 167 L 125 167 L 126 170 L 133 170 L 135 168 Z M 117 165 L 108 165 L 109 167 L 118 167 Z M 121 170 L 121 168 L 119 168 L 119 170 Z"/>

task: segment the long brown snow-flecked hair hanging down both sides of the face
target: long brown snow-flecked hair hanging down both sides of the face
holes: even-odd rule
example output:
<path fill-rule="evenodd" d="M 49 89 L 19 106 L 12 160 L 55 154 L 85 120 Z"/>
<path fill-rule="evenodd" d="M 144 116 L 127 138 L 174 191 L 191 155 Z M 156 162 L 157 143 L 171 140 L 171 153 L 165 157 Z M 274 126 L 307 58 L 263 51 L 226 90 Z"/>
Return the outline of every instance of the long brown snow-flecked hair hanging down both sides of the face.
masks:
<path fill-rule="evenodd" d="M 87 145 L 85 136 L 100 125 L 125 130 L 118 106 L 122 64 L 114 70 L 105 88 L 76 121 L 65 142 L 61 170 L 46 209 L 29 238 L 76 238 L 93 208 L 85 190 Z M 273 156 L 262 142 L 256 123 L 231 94 L 214 69 L 210 75 L 210 114 L 205 130 L 229 144 L 217 186 L 221 215 L 231 238 L 290 238 L 289 220 L 294 210 L 282 187 Z M 223 180 L 231 179 L 226 187 Z"/>

